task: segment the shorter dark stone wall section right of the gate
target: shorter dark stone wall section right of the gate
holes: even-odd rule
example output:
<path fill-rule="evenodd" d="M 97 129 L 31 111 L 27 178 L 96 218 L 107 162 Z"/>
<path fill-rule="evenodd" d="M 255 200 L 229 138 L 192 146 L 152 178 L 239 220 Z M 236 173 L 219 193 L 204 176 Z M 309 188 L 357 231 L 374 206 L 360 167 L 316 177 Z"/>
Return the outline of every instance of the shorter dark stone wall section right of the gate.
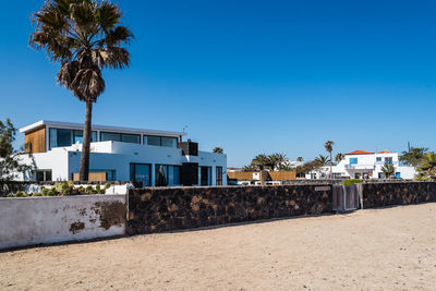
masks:
<path fill-rule="evenodd" d="M 436 202 L 436 182 L 363 183 L 363 208 Z"/>

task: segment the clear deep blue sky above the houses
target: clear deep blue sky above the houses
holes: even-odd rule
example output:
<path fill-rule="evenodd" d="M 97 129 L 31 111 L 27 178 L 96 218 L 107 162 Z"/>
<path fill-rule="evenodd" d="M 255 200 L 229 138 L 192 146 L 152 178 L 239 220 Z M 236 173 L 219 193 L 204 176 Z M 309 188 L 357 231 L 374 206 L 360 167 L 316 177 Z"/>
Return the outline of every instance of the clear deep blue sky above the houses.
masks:
<path fill-rule="evenodd" d="M 2 4 L 0 119 L 83 122 L 27 46 L 38 1 Z M 436 149 L 436 1 L 118 1 L 132 64 L 105 71 L 94 123 L 181 131 L 228 166 L 354 149 Z M 19 143 L 23 137 L 19 136 Z"/>

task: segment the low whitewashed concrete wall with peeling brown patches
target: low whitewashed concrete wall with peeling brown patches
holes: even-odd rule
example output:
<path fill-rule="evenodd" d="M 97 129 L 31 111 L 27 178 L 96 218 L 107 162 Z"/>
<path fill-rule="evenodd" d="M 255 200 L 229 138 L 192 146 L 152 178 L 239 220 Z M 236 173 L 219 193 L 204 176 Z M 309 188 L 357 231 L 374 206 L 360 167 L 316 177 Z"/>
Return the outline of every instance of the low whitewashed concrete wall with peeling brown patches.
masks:
<path fill-rule="evenodd" d="M 0 198 L 0 248 L 125 233 L 125 195 Z"/>

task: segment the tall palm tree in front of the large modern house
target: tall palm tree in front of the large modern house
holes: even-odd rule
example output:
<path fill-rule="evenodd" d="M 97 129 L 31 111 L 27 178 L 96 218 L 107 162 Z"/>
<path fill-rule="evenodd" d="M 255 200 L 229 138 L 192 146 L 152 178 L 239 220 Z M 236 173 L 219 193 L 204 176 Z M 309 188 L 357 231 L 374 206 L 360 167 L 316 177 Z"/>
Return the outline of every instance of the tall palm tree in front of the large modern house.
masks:
<path fill-rule="evenodd" d="M 105 90 L 101 70 L 123 69 L 130 53 L 123 47 L 133 38 L 120 25 L 119 7 L 96 0 L 47 0 L 33 14 L 35 32 L 29 45 L 46 50 L 52 62 L 60 63 L 58 83 L 86 104 L 80 180 L 87 181 L 93 102 Z"/>

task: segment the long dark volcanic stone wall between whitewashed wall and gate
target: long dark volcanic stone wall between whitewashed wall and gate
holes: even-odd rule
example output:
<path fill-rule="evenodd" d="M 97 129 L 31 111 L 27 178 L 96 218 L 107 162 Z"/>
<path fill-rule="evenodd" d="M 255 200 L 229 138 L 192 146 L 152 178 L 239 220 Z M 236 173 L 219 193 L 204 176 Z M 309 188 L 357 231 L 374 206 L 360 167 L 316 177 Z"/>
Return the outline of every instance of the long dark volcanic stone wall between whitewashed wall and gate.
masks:
<path fill-rule="evenodd" d="M 329 213 L 330 185 L 131 189 L 128 234 Z"/>

